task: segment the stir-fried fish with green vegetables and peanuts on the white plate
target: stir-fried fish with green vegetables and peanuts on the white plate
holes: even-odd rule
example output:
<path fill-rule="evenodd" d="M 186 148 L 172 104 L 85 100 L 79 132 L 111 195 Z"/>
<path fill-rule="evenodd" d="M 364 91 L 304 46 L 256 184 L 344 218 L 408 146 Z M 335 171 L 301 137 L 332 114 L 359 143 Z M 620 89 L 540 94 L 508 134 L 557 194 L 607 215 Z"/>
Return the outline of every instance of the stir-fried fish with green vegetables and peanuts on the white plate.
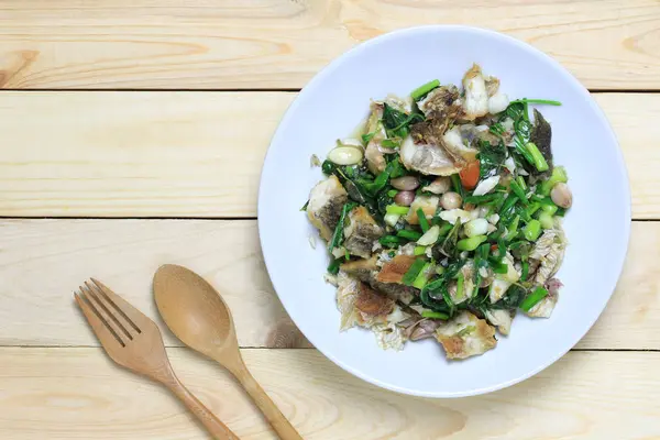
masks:
<path fill-rule="evenodd" d="M 536 107 L 472 66 L 372 101 L 360 139 L 338 141 L 304 207 L 331 254 L 341 330 L 384 349 L 435 338 L 449 359 L 494 349 L 518 310 L 549 318 L 572 196 Z M 535 107 L 531 114 L 530 108 Z"/>

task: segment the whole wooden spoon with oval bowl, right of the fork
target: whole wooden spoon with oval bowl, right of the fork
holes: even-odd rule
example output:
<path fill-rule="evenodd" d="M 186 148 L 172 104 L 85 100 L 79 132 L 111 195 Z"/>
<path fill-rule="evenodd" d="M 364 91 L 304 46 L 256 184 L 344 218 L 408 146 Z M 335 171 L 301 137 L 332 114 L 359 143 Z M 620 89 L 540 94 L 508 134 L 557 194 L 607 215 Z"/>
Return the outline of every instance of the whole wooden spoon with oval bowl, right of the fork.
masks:
<path fill-rule="evenodd" d="M 302 440 L 248 371 L 229 308 L 210 284 L 185 267 L 166 264 L 154 275 L 154 296 L 169 330 L 186 345 L 229 370 L 279 438 Z"/>

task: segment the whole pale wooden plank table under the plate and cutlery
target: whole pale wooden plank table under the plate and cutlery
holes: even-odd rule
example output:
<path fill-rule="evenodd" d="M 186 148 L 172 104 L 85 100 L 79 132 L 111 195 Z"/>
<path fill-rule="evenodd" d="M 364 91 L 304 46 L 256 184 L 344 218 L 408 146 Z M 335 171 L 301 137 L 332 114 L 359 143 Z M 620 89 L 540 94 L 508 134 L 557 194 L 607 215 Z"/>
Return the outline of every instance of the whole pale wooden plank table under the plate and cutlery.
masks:
<path fill-rule="evenodd" d="M 378 389 L 314 350 L 255 224 L 264 153 L 297 90 L 356 43 L 430 23 L 506 32 L 593 90 L 635 219 L 618 289 L 578 346 L 454 400 Z M 74 308 L 96 276 L 155 317 L 162 263 L 222 288 L 250 369 L 306 439 L 660 438 L 658 0 L 0 0 L 0 439 L 207 438 L 116 367 Z M 242 439 L 274 438 L 228 374 L 166 342 Z"/>

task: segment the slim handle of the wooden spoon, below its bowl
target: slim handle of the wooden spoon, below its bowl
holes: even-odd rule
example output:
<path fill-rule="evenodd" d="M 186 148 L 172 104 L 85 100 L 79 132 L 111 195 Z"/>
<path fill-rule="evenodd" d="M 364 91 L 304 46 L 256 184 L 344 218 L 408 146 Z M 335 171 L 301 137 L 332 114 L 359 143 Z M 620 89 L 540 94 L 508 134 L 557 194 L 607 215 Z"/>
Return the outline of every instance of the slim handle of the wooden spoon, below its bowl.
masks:
<path fill-rule="evenodd" d="M 296 431 L 296 428 L 294 428 L 286 417 L 284 417 L 282 411 L 279 411 L 277 406 L 271 400 L 271 397 L 268 397 L 266 392 L 264 392 L 252 374 L 250 374 L 242 360 L 238 362 L 237 367 L 230 369 L 230 371 L 241 383 L 250 397 L 252 397 L 254 404 L 261 409 L 268 420 L 268 424 L 271 424 L 282 440 L 302 440 L 302 437 Z"/>

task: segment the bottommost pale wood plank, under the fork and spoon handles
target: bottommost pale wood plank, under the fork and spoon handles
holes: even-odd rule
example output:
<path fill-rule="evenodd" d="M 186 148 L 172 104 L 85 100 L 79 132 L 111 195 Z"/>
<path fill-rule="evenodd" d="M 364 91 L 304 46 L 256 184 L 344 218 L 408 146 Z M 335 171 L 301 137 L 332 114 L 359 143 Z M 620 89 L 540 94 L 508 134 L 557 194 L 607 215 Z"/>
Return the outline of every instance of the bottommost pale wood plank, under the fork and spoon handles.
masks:
<path fill-rule="evenodd" d="M 244 440 L 275 439 L 223 371 L 170 349 L 183 382 Z M 315 350 L 244 350 L 309 440 L 657 439 L 659 353 L 572 352 L 538 376 L 450 400 L 397 395 Z M 0 438 L 191 440 L 208 437 L 174 398 L 97 349 L 0 349 Z"/>

